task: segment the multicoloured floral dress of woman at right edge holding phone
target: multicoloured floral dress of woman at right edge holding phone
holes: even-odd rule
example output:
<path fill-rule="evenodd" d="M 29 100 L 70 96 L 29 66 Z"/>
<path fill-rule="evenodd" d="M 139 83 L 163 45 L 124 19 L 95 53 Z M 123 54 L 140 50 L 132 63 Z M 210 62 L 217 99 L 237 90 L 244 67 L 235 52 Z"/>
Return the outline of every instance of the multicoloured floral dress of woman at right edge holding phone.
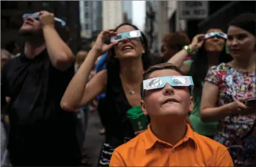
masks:
<path fill-rule="evenodd" d="M 206 82 L 219 87 L 217 105 L 225 105 L 241 97 L 255 97 L 255 72 L 241 72 L 221 63 L 209 69 Z M 235 165 L 255 166 L 256 114 L 231 115 L 221 119 L 214 140 L 228 148 Z"/>

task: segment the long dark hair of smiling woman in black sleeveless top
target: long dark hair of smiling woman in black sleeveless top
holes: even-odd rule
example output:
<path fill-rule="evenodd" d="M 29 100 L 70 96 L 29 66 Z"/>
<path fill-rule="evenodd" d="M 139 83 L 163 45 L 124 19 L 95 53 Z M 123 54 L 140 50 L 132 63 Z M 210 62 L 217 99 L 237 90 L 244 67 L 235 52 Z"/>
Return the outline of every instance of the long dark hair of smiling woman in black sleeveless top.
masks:
<path fill-rule="evenodd" d="M 139 30 L 139 28 L 137 28 L 137 26 L 134 26 L 133 24 L 122 23 L 119 26 L 117 26 L 117 28 L 115 28 L 115 31 L 117 31 L 117 29 L 119 29 L 121 26 L 125 26 L 125 25 L 132 26 L 135 30 Z M 145 51 L 142 55 L 143 68 L 146 71 L 146 69 L 148 69 L 151 66 L 152 60 L 151 60 L 151 55 L 148 48 L 148 40 L 143 32 L 141 32 L 141 35 L 143 38 L 141 42 L 144 45 L 144 51 Z M 108 40 L 107 43 L 110 43 L 110 41 Z M 104 63 L 102 63 L 102 65 L 104 65 L 105 63 L 106 63 L 107 69 L 114 68 L 119 72 L 119 60 L 115 58 L 115 48 L 111 48 L 108 51 L 107 57 L 105 58 Z"/>

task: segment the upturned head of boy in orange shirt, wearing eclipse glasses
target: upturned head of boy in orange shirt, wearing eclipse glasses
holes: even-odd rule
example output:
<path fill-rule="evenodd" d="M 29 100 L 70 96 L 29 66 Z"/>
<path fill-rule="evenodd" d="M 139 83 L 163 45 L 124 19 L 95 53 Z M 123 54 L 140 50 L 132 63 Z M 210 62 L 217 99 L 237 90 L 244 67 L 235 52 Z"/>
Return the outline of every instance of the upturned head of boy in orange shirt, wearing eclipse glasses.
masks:
<path fill-rule="evenodd" d="M 190 96 L 191 77 L 183 76 L 178 67 L 161 63 L 148 68 L 143 75 L 141 108 L 153 117 L 187 117 L 193 109 Z"/>

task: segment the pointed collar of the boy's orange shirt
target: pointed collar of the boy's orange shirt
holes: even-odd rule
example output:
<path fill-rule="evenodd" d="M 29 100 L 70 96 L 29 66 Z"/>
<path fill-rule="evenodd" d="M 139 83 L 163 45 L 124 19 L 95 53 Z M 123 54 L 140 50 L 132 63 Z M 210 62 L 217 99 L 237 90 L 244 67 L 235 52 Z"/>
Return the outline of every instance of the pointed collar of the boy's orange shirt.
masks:
<path fill-rule="evenodd" d="M 151 131 L 151 124 L 149 124 L 148 129 L 145 131 L 144 133 L 144 141 L 145 141 L 145 147 L 146 149 L 150 149 L 154 146 L 154 144 L 156 144 L 156 142 L 158 143 L 166 143 L 164 141 L 161 141 L 160 139 L 158 139 L 156 136 L 154 136 L 153 132 Z M 187 124 L 187 132 L 185 134 L 185 136 L 183 137 L 182 140 L 180 140 L 176 146 L 185 143 L 187 141 L 192 141 L 194 143 L 195 148 L 197 149 L 197 141 L 195 139 L 195 135 L 194 135 L 194 131 L 191 129 L 191 127 L 189 126 L 189 124 Z"/>

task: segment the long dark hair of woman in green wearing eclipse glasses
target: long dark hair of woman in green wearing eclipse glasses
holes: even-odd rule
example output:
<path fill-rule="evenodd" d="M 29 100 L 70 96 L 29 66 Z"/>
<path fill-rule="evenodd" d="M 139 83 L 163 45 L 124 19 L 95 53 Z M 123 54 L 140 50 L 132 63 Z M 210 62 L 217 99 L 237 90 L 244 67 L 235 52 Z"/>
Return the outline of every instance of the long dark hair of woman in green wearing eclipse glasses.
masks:
<path fill-rule="evenodd" d="M 209 30 L 211 29 L 213 28 L 210 28 Z M 192 63 L 191 75 L 194 81 L 194 89 L 201 90 L 202 82 L 204 82 L 208 70 L 207 51 L 204 49 L 204 44 L 199 48 L 195 57 L 192 57 L 192 60 L 194 60 L 194 63 Z M 219 55 L 219 63 L 228 63 L 231 60 L 233 60 L 233 58 L 228 55 L 225 48 L 223 48 L 221 55 Z"/>

